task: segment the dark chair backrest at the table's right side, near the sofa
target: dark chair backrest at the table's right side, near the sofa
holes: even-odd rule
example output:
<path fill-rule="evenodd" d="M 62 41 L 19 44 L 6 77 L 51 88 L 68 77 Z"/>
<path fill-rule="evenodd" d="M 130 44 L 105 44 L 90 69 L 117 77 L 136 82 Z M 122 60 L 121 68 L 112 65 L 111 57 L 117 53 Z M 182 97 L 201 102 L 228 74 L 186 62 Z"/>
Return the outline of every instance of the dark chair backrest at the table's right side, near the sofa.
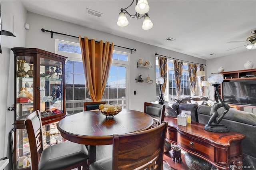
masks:
<path fill-rule="evenodd" d="M 152 127 L 156 127 L 164 121 L 165 105 L 159 105 L 154 103 L 144 103 L 144 113 L 147 113 L 154 119 Z"/>

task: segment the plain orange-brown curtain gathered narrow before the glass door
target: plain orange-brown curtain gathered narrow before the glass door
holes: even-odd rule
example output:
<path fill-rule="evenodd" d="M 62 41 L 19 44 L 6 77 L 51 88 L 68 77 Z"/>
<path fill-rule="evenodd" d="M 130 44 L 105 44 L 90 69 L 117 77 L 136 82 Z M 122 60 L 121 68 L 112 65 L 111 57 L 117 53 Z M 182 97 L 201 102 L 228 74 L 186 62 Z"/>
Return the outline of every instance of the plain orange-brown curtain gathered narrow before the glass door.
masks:
<path fill-rule="evenodd" d="M 114 43 L 79 36 L 86 84 L 92 101 L 101 101 L 110 71 Z"/>

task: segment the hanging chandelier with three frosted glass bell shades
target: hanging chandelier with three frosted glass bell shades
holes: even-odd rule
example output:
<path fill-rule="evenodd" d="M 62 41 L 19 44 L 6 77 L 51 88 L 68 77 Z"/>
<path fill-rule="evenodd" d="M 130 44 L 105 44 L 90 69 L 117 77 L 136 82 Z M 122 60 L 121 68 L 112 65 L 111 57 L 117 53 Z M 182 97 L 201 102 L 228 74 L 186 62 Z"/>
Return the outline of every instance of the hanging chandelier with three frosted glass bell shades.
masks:
<path fill-rule="evenodd" d="M 129 8 L 133 4 L 134 0 L 132 0 L 132 3 L 127 7 Z M 148 5 L 148 0 L 136 0 L 136 6 L 135 6 L 135 15 L 131 15 L 128 13 L 126 10 L 127 8 L 121 8 L 121 12 L 119 13 L 117 25 L 120 27 L 127 26 L 129 24 L 126 15 L 130 16 L 131 18 L 136 18 L 141 19 L 144 18 L 143 24 L 142 24 L 142 29 L 143 30 L 149 30 L 153 27 L 153 23 L 151 22 L 149 16 L 148 16 L 148 11 L 149 11 L 149 5 Z M 143 14 L 140 16 L 140 14 Z"/>

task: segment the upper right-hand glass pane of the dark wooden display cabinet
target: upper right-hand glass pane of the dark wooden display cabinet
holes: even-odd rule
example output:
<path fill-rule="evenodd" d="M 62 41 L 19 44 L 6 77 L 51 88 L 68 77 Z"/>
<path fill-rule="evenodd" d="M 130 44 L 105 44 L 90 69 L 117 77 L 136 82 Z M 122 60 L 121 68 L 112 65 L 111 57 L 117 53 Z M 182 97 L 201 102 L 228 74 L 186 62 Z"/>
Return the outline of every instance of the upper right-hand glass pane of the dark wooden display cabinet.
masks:
<path fill-rule="evenodd" d="M 40 58 L 41 117 L 63 114 L 62 62 Z"/>

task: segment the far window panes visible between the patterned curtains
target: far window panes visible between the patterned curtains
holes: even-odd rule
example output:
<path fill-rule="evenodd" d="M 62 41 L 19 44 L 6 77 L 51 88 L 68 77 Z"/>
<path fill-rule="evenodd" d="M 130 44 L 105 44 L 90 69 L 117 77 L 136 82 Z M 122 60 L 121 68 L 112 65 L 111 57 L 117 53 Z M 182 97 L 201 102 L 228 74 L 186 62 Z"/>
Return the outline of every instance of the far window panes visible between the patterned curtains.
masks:
<path fill-rule="evenodd" d="M 172 101 L 172 99 L 177 97 L 176 93 L 176 84 L 175 84 L 175 78 L 174 78 L 174 65 L 173 61 L 168 59 L 168 67 L 167 67 L 167 82 L 166 82 L 166 88 L 164 92 L 164 100 L 165 101 Z M 159 68 L 158 68 L 158 58 L 156 57 L 156 77 L 160 77 Z M 183 63 L 183 71 L 182 71 L 182 83 L 181 83 L 181 89 L 180 89 L 180 96 L 190 96 L 190 82 L 189 82 L 189 76 L 188 76 L 188 64 Z M 198 83 L 196 83 L 196 95 L 199 95 L 199 86 Z M 158 99 L 159 94 L 159 86 L 156 85 L 156 99 Z"/>

